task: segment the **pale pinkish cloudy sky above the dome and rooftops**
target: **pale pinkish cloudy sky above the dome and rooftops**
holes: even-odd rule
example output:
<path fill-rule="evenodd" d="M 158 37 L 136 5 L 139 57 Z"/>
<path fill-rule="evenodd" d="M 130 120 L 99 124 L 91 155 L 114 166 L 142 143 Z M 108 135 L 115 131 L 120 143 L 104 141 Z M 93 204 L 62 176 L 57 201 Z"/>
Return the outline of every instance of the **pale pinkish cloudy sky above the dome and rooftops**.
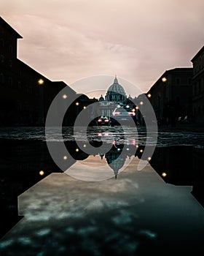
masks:
<path fill-rule="evenodd" d="M 76 81 L 97 75 L 146 92 L 165 70 L 192 67 L 204 42 L 203 0 L 1 0 L 0 10 L 23 37 L 17 57 L 79 93 Z"/>

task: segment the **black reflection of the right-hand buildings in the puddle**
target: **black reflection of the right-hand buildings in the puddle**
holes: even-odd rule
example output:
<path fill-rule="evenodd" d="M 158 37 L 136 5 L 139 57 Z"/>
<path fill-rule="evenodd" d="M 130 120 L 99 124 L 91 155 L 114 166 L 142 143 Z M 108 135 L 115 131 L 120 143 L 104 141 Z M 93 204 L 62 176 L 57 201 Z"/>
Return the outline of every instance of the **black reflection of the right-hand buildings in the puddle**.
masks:
<path fill-rule="evenodd" d="M 204 149 L 195 146 L 155 148 L 150 165 L 168 184 L 191 186 L 192 195 L 204 207 Z"/>

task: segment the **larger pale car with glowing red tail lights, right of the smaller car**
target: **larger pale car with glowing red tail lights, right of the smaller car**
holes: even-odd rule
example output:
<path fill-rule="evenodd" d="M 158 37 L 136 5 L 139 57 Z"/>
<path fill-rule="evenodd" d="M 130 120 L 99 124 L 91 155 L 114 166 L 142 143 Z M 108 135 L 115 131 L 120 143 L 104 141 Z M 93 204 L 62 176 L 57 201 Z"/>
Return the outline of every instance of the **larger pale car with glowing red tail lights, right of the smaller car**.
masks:
<path fill-rule="evenodd" d="M 136 124 L 136 113 L 130 107 L 115 108 L 111 115 L 111 126 Z"/>

